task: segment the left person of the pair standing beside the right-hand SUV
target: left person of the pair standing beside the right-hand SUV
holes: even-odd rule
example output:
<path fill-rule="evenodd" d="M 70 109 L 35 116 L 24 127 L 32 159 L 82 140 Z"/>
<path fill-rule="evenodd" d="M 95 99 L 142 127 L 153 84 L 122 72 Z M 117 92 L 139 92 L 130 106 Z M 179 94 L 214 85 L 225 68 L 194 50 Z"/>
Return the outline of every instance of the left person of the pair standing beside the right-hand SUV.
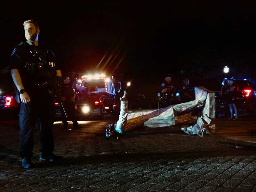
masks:
<path fill-rule="evenodd" d="M 222 99 L 223 106 L 224 106 L 225 119 L 228 119 L 230 117 L 230 108 L 228 103 L 228 92 L 227 92 L 229 88 L 230 88 L 230 85 L 228 84 L 228 79 L 224 78 L 221 89 L 220 89 L 220 97 Z"/>

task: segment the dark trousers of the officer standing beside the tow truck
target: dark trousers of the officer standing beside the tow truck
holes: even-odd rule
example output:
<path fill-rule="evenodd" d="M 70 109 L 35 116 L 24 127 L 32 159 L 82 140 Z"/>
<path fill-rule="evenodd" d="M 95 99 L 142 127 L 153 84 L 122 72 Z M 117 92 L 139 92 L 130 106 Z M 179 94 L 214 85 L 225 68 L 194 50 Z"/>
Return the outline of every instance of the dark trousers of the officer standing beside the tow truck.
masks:
<path fill-rule="evenodd" d="M 73 123 L 73 126 L 76 127 L 78 126 L 78 123 L 76 121 L 76 105 L 74 104 L 73 101 L 63 101 L 63 107 L 65 108 L 65 111 L 68 114 L 68 118 L 65 116 L 63 109 L 61 108 L 61 118 L 62 118 L 62 123 L 63 127 L 68 127 L 68 119 L 70 119 Z"/>

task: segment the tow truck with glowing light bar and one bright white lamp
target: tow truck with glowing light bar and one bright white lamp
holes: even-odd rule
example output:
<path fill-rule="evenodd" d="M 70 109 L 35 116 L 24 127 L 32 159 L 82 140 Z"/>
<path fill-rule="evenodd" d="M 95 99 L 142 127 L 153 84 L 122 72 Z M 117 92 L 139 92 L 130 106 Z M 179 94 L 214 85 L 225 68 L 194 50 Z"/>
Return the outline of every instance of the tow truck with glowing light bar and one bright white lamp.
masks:
<path fill-rule="evenodd" d="M 117 87 L 117 88 L 116 88 Z M 119 116 L 121 82 L 106 74 L 86 74 L 76 84 L 76 116 L 78 118 L 104 119 L 106 115 Z M 56 103 L 55 103 L 56 105 Z M 55 115 L 61 111 L 55 110 Z"/>

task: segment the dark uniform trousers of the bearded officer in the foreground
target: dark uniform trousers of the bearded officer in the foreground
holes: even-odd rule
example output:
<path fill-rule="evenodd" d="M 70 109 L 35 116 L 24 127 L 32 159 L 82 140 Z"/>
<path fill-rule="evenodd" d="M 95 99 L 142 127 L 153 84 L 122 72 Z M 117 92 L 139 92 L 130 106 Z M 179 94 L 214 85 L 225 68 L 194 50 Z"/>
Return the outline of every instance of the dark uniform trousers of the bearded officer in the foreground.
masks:
<path fill-rule="evenodd" d="M 36 121 L 40 122 L 40 144 L 41 156 L 52 155 L 53 152 L 53 101 L 49 98 L 33 100 L 20 104 L 20 156 L 31 158 L 34 147 L 34 128 Z"/>

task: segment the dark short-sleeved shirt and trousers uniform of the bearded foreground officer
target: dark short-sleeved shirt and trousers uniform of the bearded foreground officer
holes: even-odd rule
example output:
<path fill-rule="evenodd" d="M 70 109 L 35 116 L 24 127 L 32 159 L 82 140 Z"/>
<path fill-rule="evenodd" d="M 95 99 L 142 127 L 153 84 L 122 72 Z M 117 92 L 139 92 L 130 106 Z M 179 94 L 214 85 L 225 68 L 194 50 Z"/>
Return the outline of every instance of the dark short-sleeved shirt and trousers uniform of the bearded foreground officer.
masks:
<path fill-rule="evenodd" d="M 35 54 L 36 52 L 37 54 Z M 38 57 L 40 55 L 40 59 Z M 49 63 L 49 67 L 46 66 Z M 20 156 L 31 158 L 33 155 L 33 130 L 36 119 L 41 122 L 40 144 L 41 156 L 53 153 L 53 97 L 54 91 L 49 84 L 49 70 L 60 70 L 56 65 L 53 52 L 44 46 L 35 46 L 26 41 L 17 45 L 11 55 L 10 70 L 19 71 L 22 84 L 31 101 L 20 103 Z"/>

